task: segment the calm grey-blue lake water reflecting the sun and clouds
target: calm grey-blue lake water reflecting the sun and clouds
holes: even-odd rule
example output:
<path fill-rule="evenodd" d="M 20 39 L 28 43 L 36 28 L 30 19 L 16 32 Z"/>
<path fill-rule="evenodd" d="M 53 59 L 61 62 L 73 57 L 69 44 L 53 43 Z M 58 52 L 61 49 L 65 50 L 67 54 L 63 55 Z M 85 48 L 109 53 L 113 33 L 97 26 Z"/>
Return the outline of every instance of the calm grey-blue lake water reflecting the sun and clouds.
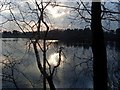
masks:
<path fill-rule="evenodd" d="M 47 60 L 54 66 L 58 61 L 58 50 L 62 51 L 62 62 L 54 74 L 54 83 L 57 88 L 92 88 L 92 50 L 88 44 L 66 44 L 58 41 L 52 42 L 47 50 Z M 41 42 L 40 42 L 41 43 Z M 107 46 L 109 85 L 117 87 L 118 66 L 120 65 L 120 50 L 116 43 Z M 42 52 L 39 50 L 42 61 Z M 42 75 L 35 59 L 30 41 L 27 39 L 3 39 L 3 87 L 15 87 L 15 79 L 19 88 L 41 88 Z M 11 68 L 12 67 L 12 68 Z M 101 66 L 102 67 L 102 66 Z M 13 69 L 14 68 L 14 69 Z M 13 73 L 12 73 L 13 72 Z M 12 78 L 10 78 L 12 76 Z M 11 82 L 12 81 L 12 82 Z"/>

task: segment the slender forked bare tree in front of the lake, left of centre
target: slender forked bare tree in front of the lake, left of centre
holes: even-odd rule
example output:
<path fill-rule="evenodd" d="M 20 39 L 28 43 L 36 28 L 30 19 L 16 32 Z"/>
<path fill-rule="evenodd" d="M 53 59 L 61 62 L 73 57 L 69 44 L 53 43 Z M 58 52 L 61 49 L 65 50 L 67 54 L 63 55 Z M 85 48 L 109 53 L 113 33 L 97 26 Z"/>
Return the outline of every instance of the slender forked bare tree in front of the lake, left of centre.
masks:
<path fill-rule="evenodd" d="M 57 67 L 59 67 L 59 65 L 61 63 L 62 49 L 60 48 L 60 50 L 59 50 L 59 61 L 58 61 L 57 65 L 55 65 L 53 68 L 51 68 L 52 66 L 48 62 L 47 55 L 46 55 L 48 47 L 49 47 L 49 44 L 46 42 L 46 38 L 47 38 L 47 34 L 50 29 L 49 29 L 49 25 L 47 24 L 47 22 L 45 20 L 45 17 L 48 17 L 45 10 L 46 10 L 47 6 L 51 3 L 51 1 L 38 2 L 37 0 L 35 0 L 34 3 L 35 3 L 35 6 L 34 6 L 35 8 L 31 7 L 30 3 L 26 2 L 26 5 L 28 6 L 28 8 L 27 8 L 28 12 L 25 12 L 19 6 L 17 7 L 16 4 L 14 4 L 13 2 L 10 2 L 8 4 L 9 5 L 8 10 L 10 12 L 11 21 L 13 21 L 25 35 L 26 35 L 25 30 L 28 30 L 28 31 L 31 30 L 31 31 L 33 31 L 33 33 L 37 32 L 33 35 L 33 39 L 30 39 L 30 40 L 31 40 L 31 43 L 33 45 L 33 49 L 35 52 L 37 66 L 38 66 L 41 74 L 43 75 L 43 88 L 44 88 L 44 90 L 46 90 L 46 80 L 47 80 L 50 89 L 55 90 L 55 85 L 53 83 L 53 76 L 54 76 L 55 70 L 57 69 Z M 14 10 L 16 7 L 19 12 L 18 17 L 14 13 Z M 30 15 L 30 18 L 32 18 L 35 15 L 34 16 L 35 19 L 28 20 L 25 15 Z M 45 33 L 43 36 L 43 43 L 42 43 L 43 47 L 42 47 L 42 45 L 39 41 L 40 41 L 40 36 L 41 36 L 40 31 L 43 31 L 43 29 L 44 29 Z M 39 50 L 41 50 L 43 53 L 43 60 L 40 60 Z M 43 64 L 42 64 L 42 62 L 43 62 Z M 48 65 L 48 68 L 46 68 L 46 65 Z"/>

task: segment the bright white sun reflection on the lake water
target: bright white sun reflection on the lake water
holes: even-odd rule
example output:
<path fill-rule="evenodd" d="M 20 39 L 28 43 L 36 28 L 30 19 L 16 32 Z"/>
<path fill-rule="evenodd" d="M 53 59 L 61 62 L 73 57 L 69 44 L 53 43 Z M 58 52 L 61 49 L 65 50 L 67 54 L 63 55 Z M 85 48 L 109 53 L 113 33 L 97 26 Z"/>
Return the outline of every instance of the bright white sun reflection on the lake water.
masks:
<path fill-rule="evenodd" d="M 61 55 L 61 61 L 63 61 L 63 59 L 64 57 Z M 56 66 L 58 64 L 58 61 L 59 61 L 59 53 L 53 53 L 52 55 L 50 55 L 48 59 L 49 64 L 52 66 Z"/>

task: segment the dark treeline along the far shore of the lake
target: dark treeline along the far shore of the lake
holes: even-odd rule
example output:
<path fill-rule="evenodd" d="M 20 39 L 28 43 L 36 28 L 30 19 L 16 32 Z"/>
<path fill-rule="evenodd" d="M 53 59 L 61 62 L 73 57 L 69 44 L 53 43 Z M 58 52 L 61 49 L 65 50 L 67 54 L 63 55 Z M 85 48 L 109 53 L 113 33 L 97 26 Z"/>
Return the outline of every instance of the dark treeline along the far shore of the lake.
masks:
<path fill-rule="evenodd" d="M 34 39 L 39 37 L 39 39 L 43 39 L 45 35 L 45 31 L 38 32 L 19 32 L 17 30 L 3 31 L 2 38 L 30 38 Z M 118 41 L 120 42 L 120 28 L 116 30 L 104 31 L 105 40 L 106 41 Z M 54 29 L 50 30 L 47 34 L 47 40 L 62 40 L 62 41 L 82 41 L 82 42 L 91 42 L 92 32 L 90 28 L 85 29 Z"/>

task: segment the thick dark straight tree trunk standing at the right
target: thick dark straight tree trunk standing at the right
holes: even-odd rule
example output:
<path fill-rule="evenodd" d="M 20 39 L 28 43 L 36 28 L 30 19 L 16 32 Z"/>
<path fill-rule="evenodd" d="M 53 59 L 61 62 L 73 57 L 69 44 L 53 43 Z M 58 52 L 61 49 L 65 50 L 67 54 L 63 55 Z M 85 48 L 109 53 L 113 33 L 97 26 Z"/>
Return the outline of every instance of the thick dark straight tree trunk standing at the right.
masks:
<path fill-rule="evenodd" d="M 101 24 L 101 2 L 92 2 L 91 29 L 94 90 L 107 90 L 107 56 Z"/>

